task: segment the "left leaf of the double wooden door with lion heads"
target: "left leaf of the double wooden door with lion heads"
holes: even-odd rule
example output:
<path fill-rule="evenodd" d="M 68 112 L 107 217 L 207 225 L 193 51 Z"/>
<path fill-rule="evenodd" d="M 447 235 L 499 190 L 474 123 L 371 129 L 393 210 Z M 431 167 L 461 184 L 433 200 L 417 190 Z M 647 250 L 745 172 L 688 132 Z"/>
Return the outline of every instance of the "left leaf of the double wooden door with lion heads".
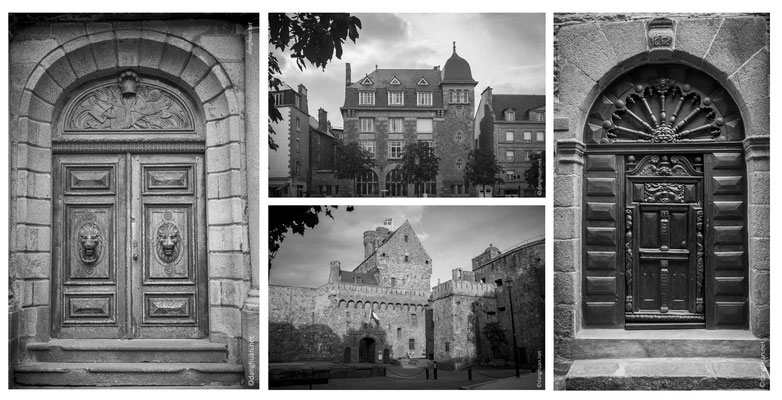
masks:
<path fill-rule="evenodd" d="M 126 335 L 124 190 L 120 155 L 57 155 L 54 171 L 52 333 Z"/>

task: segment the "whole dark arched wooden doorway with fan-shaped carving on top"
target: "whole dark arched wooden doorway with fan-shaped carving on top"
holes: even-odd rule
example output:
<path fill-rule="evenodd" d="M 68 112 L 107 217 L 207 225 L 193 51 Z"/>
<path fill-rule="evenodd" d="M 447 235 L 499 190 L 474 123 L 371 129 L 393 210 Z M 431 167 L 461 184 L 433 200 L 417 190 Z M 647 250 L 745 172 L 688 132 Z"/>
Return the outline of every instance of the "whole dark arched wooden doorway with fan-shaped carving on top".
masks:
<path fill-rule="evenodd" d="M 744 124 L 717 81 L 638 67 L 584 126 L 586 326 L 746 328 Z"/>

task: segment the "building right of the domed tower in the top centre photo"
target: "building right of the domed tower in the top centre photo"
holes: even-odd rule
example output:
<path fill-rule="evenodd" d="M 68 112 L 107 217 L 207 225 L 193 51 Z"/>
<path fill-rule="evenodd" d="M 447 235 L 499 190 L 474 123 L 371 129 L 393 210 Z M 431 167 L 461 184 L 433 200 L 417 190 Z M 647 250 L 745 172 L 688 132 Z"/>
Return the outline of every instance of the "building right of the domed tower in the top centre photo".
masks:
<path fill-rule="evenodd" d="M 495 196 L 542 195 L 527 183 L 525 172 L 539 168 L 532 156 L 546 150 L 545 107 L 546 96 L 493 94 L 491 87 L 481 93 L 475 137 L 478 148 L 492 152 L 502 170 Z"/>

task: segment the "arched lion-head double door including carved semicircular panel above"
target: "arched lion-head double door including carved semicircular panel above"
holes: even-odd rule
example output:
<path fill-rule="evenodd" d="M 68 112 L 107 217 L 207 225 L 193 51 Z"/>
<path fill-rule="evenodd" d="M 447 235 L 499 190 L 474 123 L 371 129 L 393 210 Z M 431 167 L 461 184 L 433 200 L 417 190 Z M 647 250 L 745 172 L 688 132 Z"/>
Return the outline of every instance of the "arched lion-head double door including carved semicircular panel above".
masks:
<path fill-rule="evenodd" d="M 203 116 L 124 70 L 73 89 L 52 135 L 52 336 L 208 332 Z"/>

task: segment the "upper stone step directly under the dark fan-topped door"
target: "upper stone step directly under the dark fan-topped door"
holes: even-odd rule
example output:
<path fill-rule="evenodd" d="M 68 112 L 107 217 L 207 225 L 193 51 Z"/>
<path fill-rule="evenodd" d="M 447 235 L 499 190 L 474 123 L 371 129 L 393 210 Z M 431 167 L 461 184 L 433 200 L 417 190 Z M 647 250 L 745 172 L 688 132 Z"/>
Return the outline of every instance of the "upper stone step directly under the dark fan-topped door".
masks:
<path fill-rule="evenodd" d="M 605 358 L 768 358 L 768 343 L 745 330 L 585 329 L 571 346 L 574 360 Z"/>

